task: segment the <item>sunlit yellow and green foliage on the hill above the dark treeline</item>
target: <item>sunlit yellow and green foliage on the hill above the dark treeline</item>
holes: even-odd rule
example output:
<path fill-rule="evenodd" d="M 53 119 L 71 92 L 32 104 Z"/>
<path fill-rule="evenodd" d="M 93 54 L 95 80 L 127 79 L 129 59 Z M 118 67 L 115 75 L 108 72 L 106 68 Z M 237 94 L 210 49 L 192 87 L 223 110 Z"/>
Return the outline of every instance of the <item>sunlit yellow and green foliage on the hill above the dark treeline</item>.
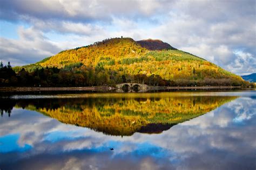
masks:
<path fill-rule="evenodd" d="M 159 75 L 165 80 L 230 79 L 242 82 L 240 76 L 179 50 L 149 51 L 131 38 L 113 38 L 94 45 L 70 49 L 52 56 L 43 67 L 62 68 L 72 63 L 86 68 L 100 67 L 118 75 Z"/>

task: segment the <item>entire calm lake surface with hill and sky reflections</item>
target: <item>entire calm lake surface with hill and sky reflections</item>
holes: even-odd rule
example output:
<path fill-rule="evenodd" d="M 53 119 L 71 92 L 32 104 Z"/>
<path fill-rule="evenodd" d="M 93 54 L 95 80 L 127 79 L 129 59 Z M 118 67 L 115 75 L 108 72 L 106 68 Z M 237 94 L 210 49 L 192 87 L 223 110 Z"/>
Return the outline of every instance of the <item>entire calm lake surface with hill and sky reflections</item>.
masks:
<path fill-rule="evenodd" d="M 0 169 L 255 169 L 256 92 L 9 95 Z"/>

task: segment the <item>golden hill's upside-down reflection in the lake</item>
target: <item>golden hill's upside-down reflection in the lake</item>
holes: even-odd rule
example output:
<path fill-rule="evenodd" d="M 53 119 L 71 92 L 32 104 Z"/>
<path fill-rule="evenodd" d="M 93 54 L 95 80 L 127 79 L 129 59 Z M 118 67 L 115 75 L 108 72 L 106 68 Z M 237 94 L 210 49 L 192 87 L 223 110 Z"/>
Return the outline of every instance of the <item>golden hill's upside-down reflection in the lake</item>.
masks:
<path fill-rule="evenodd" d="M 16 107 L 36 110 L 66 124 L 111 135 L 161 133 L 171 126 L 209 112 L 235 96 L 173 94 L 104 94 L 85 98 L 18 101 Z"/>

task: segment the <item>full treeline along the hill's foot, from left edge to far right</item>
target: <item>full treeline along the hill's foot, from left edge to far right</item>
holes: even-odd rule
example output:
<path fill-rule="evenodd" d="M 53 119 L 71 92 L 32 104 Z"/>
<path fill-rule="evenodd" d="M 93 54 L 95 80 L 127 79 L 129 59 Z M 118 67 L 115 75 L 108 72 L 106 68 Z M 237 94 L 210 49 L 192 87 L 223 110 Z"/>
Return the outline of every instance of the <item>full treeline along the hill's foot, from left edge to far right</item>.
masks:
<path fill-rule="evenodd" d="M 0 86 L 8 87 L 86 87 L 86 86 L 112 86 L 119 83 L 142 83 L 149 86 L 252 86 L 249 82 L 235 81 L 223 78 L 213 79 L 205 77 L 202 80 L 175 79 L 165 80 L 160 75 L 146 74 L 120 74 L 116 70 L 103 67 L 86 67 L 82 63 L 75 63 L 57 67 L 33 68 L 28 72 L 24 68 L 15 72 L 10 62 L 0 65 Z"/>

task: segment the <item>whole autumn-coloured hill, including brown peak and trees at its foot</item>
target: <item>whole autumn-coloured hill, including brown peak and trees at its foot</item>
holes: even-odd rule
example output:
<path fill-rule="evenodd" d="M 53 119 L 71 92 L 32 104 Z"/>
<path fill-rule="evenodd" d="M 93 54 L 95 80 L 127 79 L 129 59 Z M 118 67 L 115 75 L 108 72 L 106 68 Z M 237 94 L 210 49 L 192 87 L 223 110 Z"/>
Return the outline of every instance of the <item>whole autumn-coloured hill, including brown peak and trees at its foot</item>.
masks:
<path fill-rule="evenodd" d="M 19 74 L 22 68 L 14 69 Z M 122 82 L 150 86 L 248 84 L 203 58 L 152 39 L 105 39 L 59 52 L 24 68 L 23 72 L 30 72 L 27 75 L 37 75 L 37 84 L 43 86 L 114 86 Z"/>

